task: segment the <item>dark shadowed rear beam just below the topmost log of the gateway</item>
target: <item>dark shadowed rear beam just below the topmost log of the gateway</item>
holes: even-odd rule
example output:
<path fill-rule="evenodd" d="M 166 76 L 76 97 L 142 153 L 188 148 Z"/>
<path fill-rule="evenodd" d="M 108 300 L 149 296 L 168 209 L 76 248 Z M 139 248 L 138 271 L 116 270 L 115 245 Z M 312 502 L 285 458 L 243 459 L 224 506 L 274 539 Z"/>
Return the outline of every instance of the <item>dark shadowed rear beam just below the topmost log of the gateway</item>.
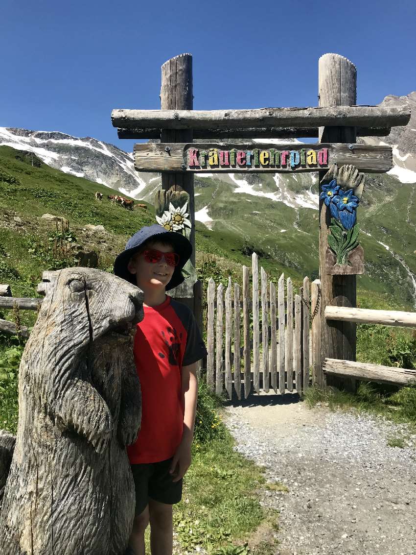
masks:
<path fill-rule="evenodd" d="M 387 137 L 390 127 L 357 127 L 357 137 Z M 160 129 L 117 129 L 119 139 L 160 139 Z M 248 127 L 245 129 L 196 129 L 195 139 L 298 139 L 318 137 L 318 127 Z"/>

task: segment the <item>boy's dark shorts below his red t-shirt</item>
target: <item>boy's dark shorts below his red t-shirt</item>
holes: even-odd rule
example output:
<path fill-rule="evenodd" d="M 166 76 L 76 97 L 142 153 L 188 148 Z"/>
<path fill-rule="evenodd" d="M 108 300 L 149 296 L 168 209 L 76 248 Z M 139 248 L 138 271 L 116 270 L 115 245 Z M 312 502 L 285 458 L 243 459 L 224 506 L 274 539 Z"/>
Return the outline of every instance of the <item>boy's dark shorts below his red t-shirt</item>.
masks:
<path fill-rule="evenodd" d="M 173 505 L 182 497 L 182 480 L 173 482 L 169 473 L 172 459 L 144 465 L 130 465 L 136 490 L 135 514 L 144 511 L 149 498 L 159 503 Z"/>

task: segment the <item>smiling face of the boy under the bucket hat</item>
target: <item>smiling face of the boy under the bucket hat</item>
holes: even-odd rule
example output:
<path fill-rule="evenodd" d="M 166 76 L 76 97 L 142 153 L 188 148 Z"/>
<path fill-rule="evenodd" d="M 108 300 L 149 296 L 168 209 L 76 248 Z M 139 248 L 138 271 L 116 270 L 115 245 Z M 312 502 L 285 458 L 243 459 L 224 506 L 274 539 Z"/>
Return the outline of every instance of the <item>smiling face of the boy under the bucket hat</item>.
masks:
<path fill-rule="evenodd" d="M 164 245 L 159 243 L 159 241 L 147 244 L 146 249 L 160 250 L 161 253 L 174 252 L 173 246 Z M 166 263 L 164 256 L 159 262 L 146 262 L 143 252 L 132 256 L 127 268 L 131 274 L 135 274 L 136 283 L 143 291 L 165 289 L 175 270 L 175 266 L 170 266 Z"/>

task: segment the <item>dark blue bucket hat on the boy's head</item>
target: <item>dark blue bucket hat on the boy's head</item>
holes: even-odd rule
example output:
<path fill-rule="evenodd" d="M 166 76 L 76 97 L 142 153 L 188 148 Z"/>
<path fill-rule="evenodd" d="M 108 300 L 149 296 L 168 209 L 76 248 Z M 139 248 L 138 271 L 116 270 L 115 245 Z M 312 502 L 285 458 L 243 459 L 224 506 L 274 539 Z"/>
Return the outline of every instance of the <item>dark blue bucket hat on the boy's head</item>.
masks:
<path fill-rule="evenodd" d="M 182 275 L 182 268 L 184 268 L 187 261 L 191 258 L 192 245 L 184 235 L 180 235 L 176 233 L 176 231 L 168 231 L 159 224 L 145 226 L 139 229 L 133 237 L 130 237 L 123 253 L 120 253 L 114 261 L 114 274 L 136 285 L 136 277 L 129 272 L 127 265 L 129 264 L 131 256 L 137 253 L 145 241 L 149 239 L 154 241 L 166 241 L 166 243 L 172 244 L 175 253 L 179 255 L 179 264 L 175 266 L 172 278 L 168 285 L 166 285 L 166 290 L 173 289 L 177 285 L 180 285 L 185 280 Z"/>

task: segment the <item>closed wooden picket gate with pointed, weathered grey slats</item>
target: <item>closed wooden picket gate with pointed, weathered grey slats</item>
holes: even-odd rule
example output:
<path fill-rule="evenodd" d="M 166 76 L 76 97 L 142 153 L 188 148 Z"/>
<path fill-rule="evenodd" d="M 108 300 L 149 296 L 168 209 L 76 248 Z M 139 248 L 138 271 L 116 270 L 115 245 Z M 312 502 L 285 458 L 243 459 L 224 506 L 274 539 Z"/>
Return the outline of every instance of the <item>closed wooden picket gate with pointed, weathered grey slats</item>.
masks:
<path fill-rule="evenodd" d="M 218 394 L 225 386 L 230 398 L 234 385 L 239 399 L 242 385 L 246 398 L 252 387 L 257 393 L 270 386 L 281 395 L 301 393 L 310 381 L 310 280 L 305 278 L 300 294 L 293 296 L 292 280 L 287 278 L 285 292 L 282 274 L 276 292 L 261 268 L 259 291 L 256 253 L 251 278 L 250 292 L 250 270 L 243 266 L 242 295 L 231 278 L 225 291 L 209 280 L 207 385 Z"/>

